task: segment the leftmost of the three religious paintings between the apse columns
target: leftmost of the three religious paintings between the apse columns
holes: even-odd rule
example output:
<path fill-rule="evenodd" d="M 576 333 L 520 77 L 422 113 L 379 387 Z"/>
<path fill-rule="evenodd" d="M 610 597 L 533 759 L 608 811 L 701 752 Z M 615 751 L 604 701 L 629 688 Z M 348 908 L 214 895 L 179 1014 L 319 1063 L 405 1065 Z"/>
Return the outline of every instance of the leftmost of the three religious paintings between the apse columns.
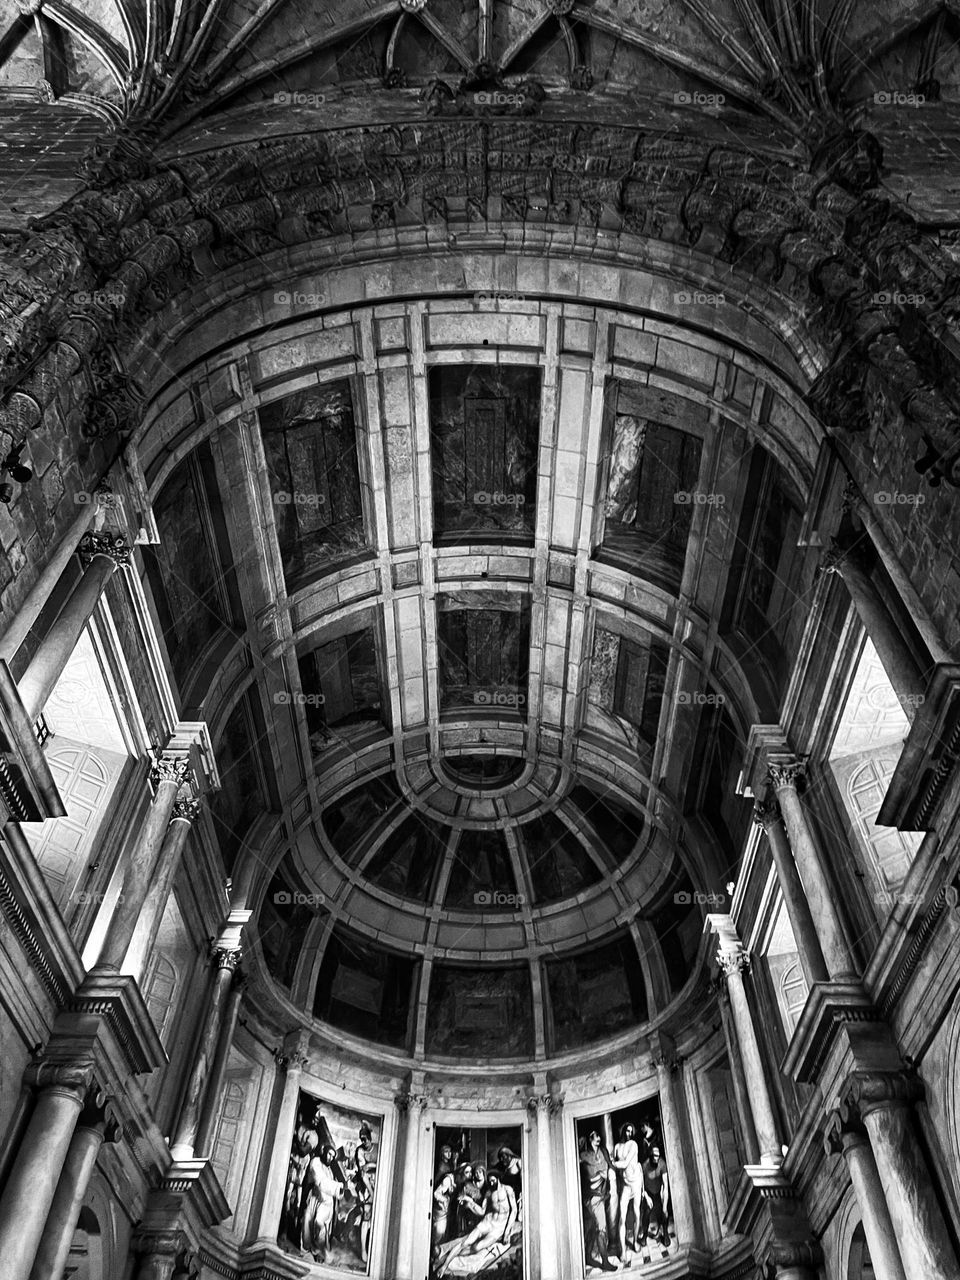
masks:
<path fill-rule="evenodd" d="M 383 1116 L 301 1092 L 278 1243 L 303 1262 L 366 1275 Z"/>

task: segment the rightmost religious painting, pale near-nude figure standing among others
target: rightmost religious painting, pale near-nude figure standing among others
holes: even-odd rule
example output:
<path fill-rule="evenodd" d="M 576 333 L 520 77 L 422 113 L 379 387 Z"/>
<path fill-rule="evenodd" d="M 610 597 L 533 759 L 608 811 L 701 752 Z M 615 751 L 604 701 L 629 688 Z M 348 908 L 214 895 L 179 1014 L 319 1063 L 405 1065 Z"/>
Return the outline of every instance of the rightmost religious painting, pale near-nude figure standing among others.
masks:
<path fill-rule="evenodd" d="M 588 1276 L 660 1262 L 676 1253 L 660 1108 L 646 1098 L 575 1121 Z"/>

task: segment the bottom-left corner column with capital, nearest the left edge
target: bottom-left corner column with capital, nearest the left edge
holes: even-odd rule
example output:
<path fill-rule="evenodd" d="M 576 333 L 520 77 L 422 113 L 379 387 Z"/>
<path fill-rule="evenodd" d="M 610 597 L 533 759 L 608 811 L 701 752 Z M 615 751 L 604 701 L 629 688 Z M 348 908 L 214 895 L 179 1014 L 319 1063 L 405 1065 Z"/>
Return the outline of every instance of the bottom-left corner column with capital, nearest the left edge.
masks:
<path fill-rule="evenodd" d="M 40 1092 L 0 1197 L 4 1280 L 29 1277 L 92 1069 L 40 1064 L 35 1073 Z"/>

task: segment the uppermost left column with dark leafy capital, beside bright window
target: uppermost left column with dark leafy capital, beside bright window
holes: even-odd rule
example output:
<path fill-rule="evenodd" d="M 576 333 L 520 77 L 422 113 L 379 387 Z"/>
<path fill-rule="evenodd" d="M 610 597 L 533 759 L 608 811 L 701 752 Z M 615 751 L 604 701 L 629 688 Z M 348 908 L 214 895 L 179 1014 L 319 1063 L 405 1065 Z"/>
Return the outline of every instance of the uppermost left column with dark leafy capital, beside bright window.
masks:
<path fill-rule="evenodd" d="M 44 636 L 17 686 L 32 721 L 44 710 L 109 579 L 119 564 L 131 562 L 131 549 L 122 534 L 84 534 L 78 554 L 83 576 Z"/>

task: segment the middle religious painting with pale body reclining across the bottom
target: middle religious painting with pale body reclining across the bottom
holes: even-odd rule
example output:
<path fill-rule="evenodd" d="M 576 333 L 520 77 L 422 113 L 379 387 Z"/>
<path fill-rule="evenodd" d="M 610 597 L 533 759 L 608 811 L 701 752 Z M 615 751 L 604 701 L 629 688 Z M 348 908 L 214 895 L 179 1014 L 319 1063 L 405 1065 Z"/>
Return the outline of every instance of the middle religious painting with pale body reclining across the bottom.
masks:
<path fill-rule="evenodd" d="M 522 1280 L 522 1129 L 438 1126 L 434 1140 L 430 1280 Z"/>

